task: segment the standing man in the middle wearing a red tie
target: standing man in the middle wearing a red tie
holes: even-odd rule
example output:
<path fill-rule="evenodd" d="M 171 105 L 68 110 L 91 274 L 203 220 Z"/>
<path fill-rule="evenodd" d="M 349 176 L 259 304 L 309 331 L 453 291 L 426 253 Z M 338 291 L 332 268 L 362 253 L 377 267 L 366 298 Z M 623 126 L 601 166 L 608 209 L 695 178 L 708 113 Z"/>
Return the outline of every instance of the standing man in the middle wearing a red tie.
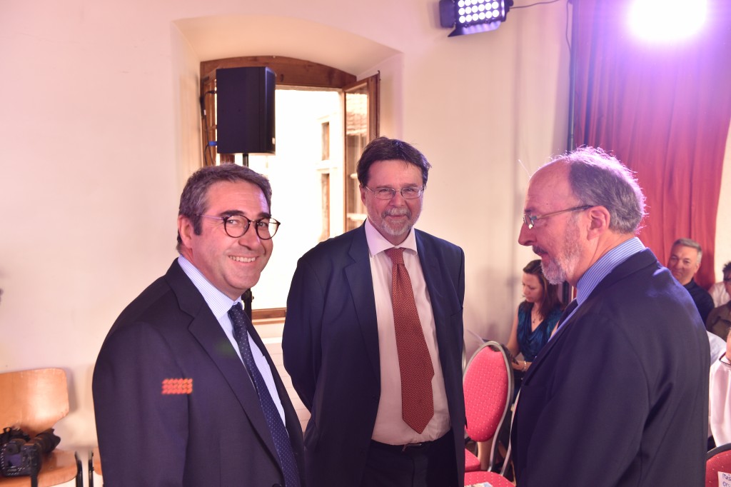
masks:
<path fill-rule="evenodd" d="M 357 165 L 368 219 L 300 258 L 284 366 L 311 412 L 310 486 L 464 482 L 464 253 L 414 230 L 431 167 L 379 137 Z"/>

